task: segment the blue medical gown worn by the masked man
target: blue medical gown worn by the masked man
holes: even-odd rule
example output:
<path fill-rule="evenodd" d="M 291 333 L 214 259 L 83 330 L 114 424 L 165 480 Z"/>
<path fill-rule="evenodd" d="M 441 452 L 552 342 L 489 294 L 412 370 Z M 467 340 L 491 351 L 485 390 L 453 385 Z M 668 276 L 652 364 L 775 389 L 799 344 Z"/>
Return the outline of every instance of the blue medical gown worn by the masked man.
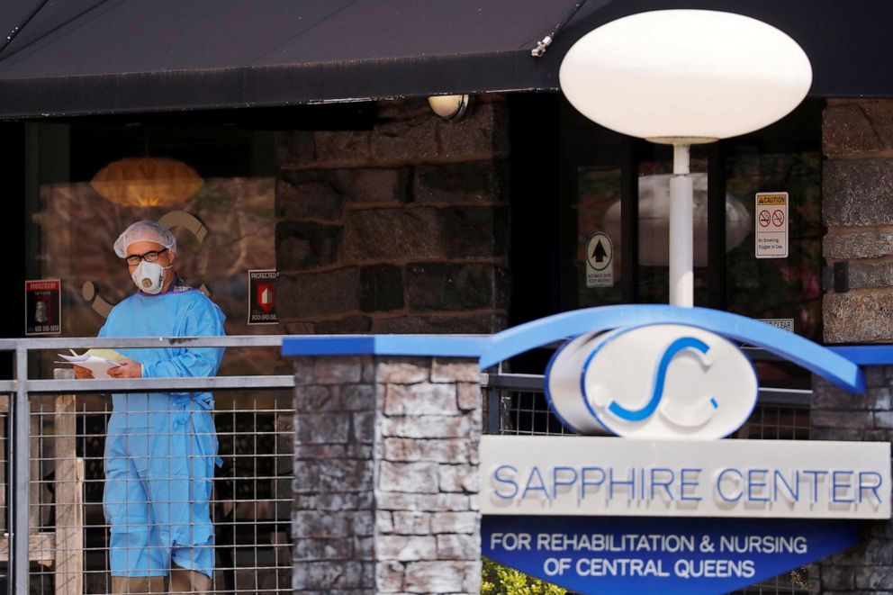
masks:
<path fill-rule="evenodd" d="M 99 337 L 224 334 L 225 316 L 203 293 L 135 293 L 116 305 Z M 212 376 L 222 348 L 119 349 L 144 378 Z M 113 394 L 105 441 L 105 518 L 114 576 L 163 576 L 170 564 L 211 575 L 210 514 L 217 435 L 211 392 Z"/>

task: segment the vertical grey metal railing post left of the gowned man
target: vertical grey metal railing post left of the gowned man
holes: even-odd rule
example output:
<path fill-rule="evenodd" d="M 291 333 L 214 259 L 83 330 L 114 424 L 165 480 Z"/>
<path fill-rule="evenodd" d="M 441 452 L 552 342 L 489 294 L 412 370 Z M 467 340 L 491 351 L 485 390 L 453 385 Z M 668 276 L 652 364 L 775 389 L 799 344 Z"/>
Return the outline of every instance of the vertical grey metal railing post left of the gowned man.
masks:
<path fill-rule="evenodd" d="M 28 402 L 28 351 L 15 349 L 15 397 L 10 403 L 9 473 L 9 593 L 27 593 L 28 586 L 28 489 L 31 459 L 31 407 Z"/>

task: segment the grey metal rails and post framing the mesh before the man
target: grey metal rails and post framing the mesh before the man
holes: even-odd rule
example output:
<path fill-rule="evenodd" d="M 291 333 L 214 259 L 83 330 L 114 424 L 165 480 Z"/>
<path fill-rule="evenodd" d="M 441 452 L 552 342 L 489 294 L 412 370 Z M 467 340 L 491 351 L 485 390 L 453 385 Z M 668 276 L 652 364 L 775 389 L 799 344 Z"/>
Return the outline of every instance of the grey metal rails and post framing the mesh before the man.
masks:
<path fill-rule="evenodd" d="M 32 464 L 32 403 L 41 395 L 86 395 L 122 392 L 220 392 L 288 389 L 294 387 L 292 374 L 230 375 L 190 378 L 140 378 L 112 380 L 48 380 L 31 377 L 29 366 L 32 354 L 49 350 L 86 348 L 159 348 L 159 347 L 280 347 L 282 336 L 233 336 L 200 338 L 5 338 L 0 339 L 0 351 L 14 353 L 14 380 L 0 381 L 0 394 L 9 399 L 9 435 L 5 439 L 8 456 L 8 532 L 5 536 L 8 574 L 6 590 L 10 594 L 29 590 L 30 563 L 37 547 L 55 547 L 55 542 L 32 542 L 33 514 L 31 476 Z M 250 412 L 250 408 L 248 412 Z M 108 410 L 105 411 L 106 414 Z M 77 411 L 74 412 L 77 415 Z M 237 414 L 233 410 L 233 416 Z M 41 414 L 42 415 L 42 414 Z M 38 427 L 41 427 L 38 424 Z M 275 430 L 274 430 L 275 431 Z M 234 429 L 233 434 L 236 434 Z M 58 437 L 59 439 L 71 436 Z M 257 436 L 255 437 L 257 440 Z M 45 458 L 40 453 L 38 458 Z M 291 466 L 288 466 L 289 471 Z M 257 479 L 257 478 L 255 478 Z M 36 483 L 40 487 L 40 482 Z M 235 498 L 233 506 L 239 504 Z M 245 524 L 245 523 L 242 523 Z M 233 522 L 234 526 L 239 525 Z M 80 527 L 83 529 L 84 527 Z M 238 527 L 236 527 L 238 528 Z M 41 545 L 43 544 L 43 545 Z M 274 569 L 275 570 L 275 569 Z M 230 581 L 228 581 L 230 582 Z M 231 588 L 231 585 L 230 585 Z"/>

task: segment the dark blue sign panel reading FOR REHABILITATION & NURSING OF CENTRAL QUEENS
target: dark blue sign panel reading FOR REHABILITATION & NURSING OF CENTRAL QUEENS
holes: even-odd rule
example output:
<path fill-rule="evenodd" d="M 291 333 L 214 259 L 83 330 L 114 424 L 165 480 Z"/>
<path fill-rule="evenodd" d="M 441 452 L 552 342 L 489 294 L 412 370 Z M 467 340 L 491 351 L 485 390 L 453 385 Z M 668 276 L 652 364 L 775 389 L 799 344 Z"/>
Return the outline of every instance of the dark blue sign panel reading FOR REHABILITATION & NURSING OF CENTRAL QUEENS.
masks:
<path fill-rule="evenodd" d="M 859 541 L 840 521 L 484 517 L 483 555 L 582 593 L 724 593 Z"/>

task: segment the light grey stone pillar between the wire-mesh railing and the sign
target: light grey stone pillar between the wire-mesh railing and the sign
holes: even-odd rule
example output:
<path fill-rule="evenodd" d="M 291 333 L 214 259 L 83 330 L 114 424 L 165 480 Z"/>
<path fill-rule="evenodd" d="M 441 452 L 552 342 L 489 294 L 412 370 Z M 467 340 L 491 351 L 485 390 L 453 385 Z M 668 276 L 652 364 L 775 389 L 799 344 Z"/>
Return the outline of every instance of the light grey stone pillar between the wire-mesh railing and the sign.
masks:
<path fill-rule="evenodd" d="M 477 361 L 297 358 L 299 593 L 477 593 Z"/>

